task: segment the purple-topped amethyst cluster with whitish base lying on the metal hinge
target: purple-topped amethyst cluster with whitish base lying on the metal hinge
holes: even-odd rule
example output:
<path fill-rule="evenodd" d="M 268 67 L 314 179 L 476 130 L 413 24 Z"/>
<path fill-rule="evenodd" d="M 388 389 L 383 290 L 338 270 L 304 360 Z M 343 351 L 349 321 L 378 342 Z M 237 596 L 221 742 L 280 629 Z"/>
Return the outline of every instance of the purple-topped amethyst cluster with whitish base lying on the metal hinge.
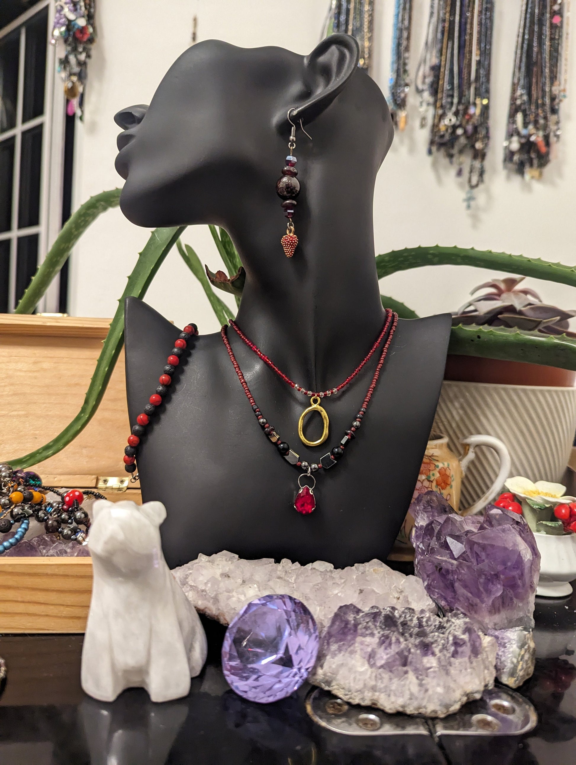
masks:
<path fill-rule="evenodd" d="M 445 717 L 494 682 L 496 640 L 463 614 L 341 606 L 310 681 L 351 704 Z"/>

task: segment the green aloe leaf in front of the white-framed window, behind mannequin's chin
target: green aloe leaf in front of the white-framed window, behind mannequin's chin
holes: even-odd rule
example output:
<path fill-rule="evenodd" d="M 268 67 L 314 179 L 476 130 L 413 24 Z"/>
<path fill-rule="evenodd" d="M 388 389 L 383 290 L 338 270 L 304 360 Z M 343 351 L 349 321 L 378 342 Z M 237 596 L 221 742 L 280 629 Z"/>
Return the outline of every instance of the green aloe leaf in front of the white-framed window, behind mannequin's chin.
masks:
<path fill-rule="evenodd" d="M 70 256 L 70 251 L 80 236 L 101 214 L 118 207 L 122 189 L 112 189 L 95 194 L 84 202 L 75 213 L 64 223 L 62 230 L 50 247 L 44 262 L 38 266 L 37 272 L 31 278 L 28 288 L 22 295 L 21 301 L 15 308 L 15 314 L 31 314 L 44 297 L 52 280 Z"/>

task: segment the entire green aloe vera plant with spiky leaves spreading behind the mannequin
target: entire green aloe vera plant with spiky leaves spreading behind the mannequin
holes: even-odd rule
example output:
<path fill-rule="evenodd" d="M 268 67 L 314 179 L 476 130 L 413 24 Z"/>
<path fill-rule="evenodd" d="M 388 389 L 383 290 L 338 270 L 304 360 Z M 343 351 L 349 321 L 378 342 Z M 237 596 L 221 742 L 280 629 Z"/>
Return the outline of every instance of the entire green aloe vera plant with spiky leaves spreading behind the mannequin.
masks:
<path fill-rule="evenodd" d="M 73 245 L 100 213 L 118 205 L 119 194 L 118 189 L 97 194 L 70 217 L 44 263 L 32 278 L 24 297 L 16 308 L 18 313 L 34 311 L 37 302 L 42 298 L 51 280 L 69 256 Z M 125 291 L 119 301 L 119 308 L 112 324 L 110 324 L 109 333 L 103 343 L 103 350 L 96 363 L 96 370 L 78 415 L 52 441 L 30 454 L 24 455 L 24 457 L 11 459 L 9 461 L 11 465 L 29 467 L 52 457 L 86 427 L 102 400 L 112 369 L 122 349 L 124 298 L 128 295 L 142 298 L 145 295 L 152 278 L 154 278 L 161 262 L 164 261 L 174 243 L 178 243 L 177 249 L 181 257 L 200 281 L 218 320 L 224 324 L 228 318 L 233 317 L 233 312 L 213 291 L 213 287 L 227 291 L 234 295 L 236 304 L 240 302 L 245 275 L 232 239 L 224 229 L 210 226 L 210 233 L 212 233 L 216 248 L 220 252 L 220 257 L 228 272 L 228 277 L 226 277 L 224 272 L 213 274 L 208 269 L 204 273 L 200 259 L 194 249 L 178 241 L 183 231 L 184 227 L 156 229 L 140 253 L 135 269 L 129 276 Z M 523 274 L 576 287 L 576 269 L 571 266 L 525 258 L 519 255 L 509 255 L 506 252 L 434 246 L 395 250 L 376 257 L 376 270 L 379 278 L 384 278 L 397 271 L 415 269 L 424 265 L 447 264 L 475 265 L 484 269 Z M 392 308 L 400 317 L 418 318 L 415 311 L 394 298 L 382 295 L 381 299 L 385 308 Z M 565 334 L 546 336 L 517 328 L 476 326 L 474 324 L 459 325 L 452 327 L 449 353 L 576 369 L 576 340 Z"/>

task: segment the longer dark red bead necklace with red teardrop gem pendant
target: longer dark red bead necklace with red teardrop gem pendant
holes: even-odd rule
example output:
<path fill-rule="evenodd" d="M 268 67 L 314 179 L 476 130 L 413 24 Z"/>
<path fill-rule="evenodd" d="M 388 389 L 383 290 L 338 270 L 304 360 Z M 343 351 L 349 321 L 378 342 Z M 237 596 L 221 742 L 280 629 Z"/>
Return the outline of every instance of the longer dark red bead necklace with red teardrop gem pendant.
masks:
<path fill-rule="evenodd" d="M 330 467 L 334 467 L 334 465 L 337 464 L 337 461 L 340 460 L 340 457 L 343 456 L 344 449 L 348 446 L 348 444 L 350 444 L 350 441 L 353 441 L 353 439 L 356 438 L 356 431 L 358 431 L 358 429 L 362 425 L 363 417 L 366 414 L 366 410 L 368 409 L 370 399 L 372 398 L 372 394 L 374 392 L 374 389 L 376 388 L 376 382 L 378 382 L 380 370 L 382 369 L 384 360 L 386 359 L 386 354 L 388 353 L 388 349 L 390 347 L 390 343 L 392 343 L 392 337 L 394 337 L 396 326 L 398 325 L 398 314 L 395 314 L 392 311 L 386 311 L 386 314 L 387 314 L 386 324 L 384 325 L 385 329 L 382 330 L 382 334 L 380 334 L 379 340 L 381 340 L 382 337 L 384 337 L 385 330 L 389 329 L 388 338 L 386 340 L 386 343 L 384 343 L 384 347 L 382 348 L 382 353 L 380 353 L 378 366 L 376 366 L 376 371 L 373 374 L 372 381 L 370 382 L 368 390 L 366 391 L 366 396 L 364 397 L 364 401 L 362 406 L 360 407 L 360 411 L 356 414 L 356 417 L 353 419 L 350 429 L 345 431 L 344 437 L 340 441 L 340 444 L 335 446 L 332 450 L 328 451 L 327 454 L 324 454 L 324 457 L 321 457 L 318 463 L 312 463 L 312 464 L 308 464 L 308 462 L 301 461 L 300 455 L 296 454 L 295 451 L 292 451 L 289 444 L 287 444 L 286 441 L 283 441 L 280 435 L 278 435 L 278 432 L 275 431 L 275 428 L 272 425 L 268 424 L 268 420 L 264 417 L 264 415 L 262 415 L 262 411 L 259 408 L 259 405 L 256 404 L 254 397 L 252 396 L 252 393 L 250 392 L 250 389 L 248 387 L 248 383 L 246 382 L 246 379 L 244 379 L 244 376 L 242 374 L 242 369 L 240 369 L 239 363 L 236 361 L 236 356 L 234 356 L 234 352 L 232 350 L 232 347 L 230 347 L 228 337 L 226 337 L 226 327 L 222 327 L 222 330 L 220 330 L 220 334 L 222 336 L 223 343 L 226 346 L 226 350 L 228 351 L 230 361 L 232 362 L 234 370 L 236 371 L 236 375 L 238 376 L 238 379 L 240 381 L 240 384 L 242 385 L 242 388 L 244 389 L 244 392 L 246 393 L 246 398 L 249 400 L 250 405 L 252 406 L 252 412 L 254 412 L 255 417 L 258 420 L 258 424 L 263 429 L 265 435 L 268 436 L 269 440 L 272 441 L 272 444 L 276 445 L 281 456 L 284 457 L 289 464 L 298 468 L 298 470 L 301 470 L 301 474 L 298 476 L 298 491 L 296 493 L 295 500 L 294 500 L 294 506 L 295 506 L 295 509 L 298 510 L 298 513 L 303 513 L 304 515 L 308 515 L 308 513 L 312 513 L 312 511 L 316 507 L 316 498 L 314 497 L 314 487 L 316 486 L 316 479 L 312 474 L 316 473 L 318 470 L 321 470 L 321 469 L 328 470 Z M 390 326 L 391 324 L 392 324 L 392 327 Z M 237 327 L 234 327 L 234 329 L 236 329 L 236 331 L 239 332 Z M 240 335 L 240 337 L 242 337 L 242 335 Z M 374 349 L 370 352 L 369 355 L 371 356 L 373 352 L 374 352 Z M 361 366 L 363 366 L 367 360 L 368 360 L 368 357 L 366 358 L 366 360 L 363 361 Z M 358 371 L 360 371 L 360 368 L 358 369 Z M 357 372 L 354 374 L 354 376 L 356 376 L 356 374 Z M 291 382 L 291 381 L 288 381 L 288 382 Z M 308 477 L 313 481 L 311 486 L 306 486 L 306 485 L 302 486 L 300 482 L 301 482 L 301 479 L 304 477 Z"/>

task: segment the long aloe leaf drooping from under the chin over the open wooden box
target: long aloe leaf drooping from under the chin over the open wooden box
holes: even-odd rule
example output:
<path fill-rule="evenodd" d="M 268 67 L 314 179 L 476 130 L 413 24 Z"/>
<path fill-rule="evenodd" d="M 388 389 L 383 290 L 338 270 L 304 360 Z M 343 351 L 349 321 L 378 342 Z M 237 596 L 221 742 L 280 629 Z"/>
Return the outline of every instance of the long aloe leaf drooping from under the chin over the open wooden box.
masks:
<path fill-rule="evenodd" d="M 151 233 L 145 248 L 140 252 L 134 270 L 129 275 L 122 298 L 119 300 L 116 314 L 112 319 L 112 324 L 110 324 L 106 340 L 104 340 L 102 351 L 96 362 L 96 369 L 90 380 L 80 412 L 73 418 L 70 425 L 67 425 L 52 441 L 48 441 L 41 448 L 31 451 L 30 454 L 24 454 L 24 457 L 6 460 L 12 467 L 29 467 L 30 465 L 47 460 L 48 457 L 53 457 L 54 454 L 57 454 L 70 444 L 70 441 L 73 441 L 86 428 L 86 425 L 88 425 L 96 409 L 99 407 L 112 370 L 122 350 L 124 343 L 124 299 L 129 296 L 135 298 L 144 297 L 152 278 L 154 278 L 164 258 L 168 255 L 174 243 L 177 242 L 184 228 L 185 226 L 171 229 L 156 229 Z"/>

